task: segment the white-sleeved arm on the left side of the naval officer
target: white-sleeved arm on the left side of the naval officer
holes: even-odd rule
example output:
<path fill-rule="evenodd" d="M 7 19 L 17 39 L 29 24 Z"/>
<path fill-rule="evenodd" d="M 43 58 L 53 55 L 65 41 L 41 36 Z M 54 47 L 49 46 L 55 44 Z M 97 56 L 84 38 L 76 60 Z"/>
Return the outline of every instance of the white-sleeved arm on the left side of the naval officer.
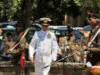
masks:
<path fill-rule="evenodd" d="M 30 44 L 29 44 L 29 59 L 30 59 L 31 61 L 33 61 L 33 56 L 34 56 L 34 53 L 35 53 L 35 48 L 36 48 L 36 37 L 37 37 L 37 35 L 36 35 L 36 32 L 35 32 L 35 34 L 34 34 L 32 40 L 31 40 L 31 42 L 30 42 Z"/>

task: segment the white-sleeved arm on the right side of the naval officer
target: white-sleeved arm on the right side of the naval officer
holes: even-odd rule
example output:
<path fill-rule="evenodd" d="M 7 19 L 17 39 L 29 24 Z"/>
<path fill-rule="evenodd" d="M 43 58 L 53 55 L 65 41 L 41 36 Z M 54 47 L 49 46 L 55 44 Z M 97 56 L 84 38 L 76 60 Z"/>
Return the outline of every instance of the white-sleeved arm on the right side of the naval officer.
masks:
<path fill-rule="evenodd" d="M 56 36 L 53 35 L 53 40 L 52 40 L 52 61 L 56 61 L 57 60 L 57 53 L 59 51 L 59 46 L 56 40 Z"/>

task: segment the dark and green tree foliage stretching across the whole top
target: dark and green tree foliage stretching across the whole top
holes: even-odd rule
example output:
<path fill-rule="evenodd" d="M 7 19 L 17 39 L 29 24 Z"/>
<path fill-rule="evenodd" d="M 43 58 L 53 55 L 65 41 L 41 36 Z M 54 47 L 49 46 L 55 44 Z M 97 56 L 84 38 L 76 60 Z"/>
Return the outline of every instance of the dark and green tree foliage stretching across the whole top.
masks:
<path fill-rule="evenodd" d="M 92 4 L 88 4 L 89 1 Z M 30 20 L 30 18 L 36 20 L 47 16 L 52 18 L 55 24 L 62 24 L 66 13 L 77 17 L 81 14 L 80 10 L 86 7 L 98 11 L 99 4 L 100 0 L 0 0 L 0 21 Z"/>

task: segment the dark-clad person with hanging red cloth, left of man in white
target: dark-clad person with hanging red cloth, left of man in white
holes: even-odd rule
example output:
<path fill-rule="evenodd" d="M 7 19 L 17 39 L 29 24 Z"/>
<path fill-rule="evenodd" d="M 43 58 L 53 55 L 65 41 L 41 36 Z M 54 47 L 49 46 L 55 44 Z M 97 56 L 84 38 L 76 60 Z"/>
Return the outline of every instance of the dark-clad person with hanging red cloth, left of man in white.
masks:
<path fill-rule="evenodd" d="M 27 34 L 28 29 L 25 30 L 25 28 L 22 27 L 23 21 L 19 21 L 16 26 L 17 26 L 16 27 L 16 32 L 17 32 L 16 34 L 18 36 L 18 42 L 19 42 L 18 48 L 20 49 L 20 52 L 17 55 L 18 61 L 20 63 L 20 67 L 19 67 L 20 72 L 19 73 L 24 73 L 25 75 L 29 75 L 29 69 L 25 63 L 25 61 L 29 60 L 28 59 L 28 54 L 29 54 L 28 53 L 28 43 L 26 40 L 26 34 Z"/>

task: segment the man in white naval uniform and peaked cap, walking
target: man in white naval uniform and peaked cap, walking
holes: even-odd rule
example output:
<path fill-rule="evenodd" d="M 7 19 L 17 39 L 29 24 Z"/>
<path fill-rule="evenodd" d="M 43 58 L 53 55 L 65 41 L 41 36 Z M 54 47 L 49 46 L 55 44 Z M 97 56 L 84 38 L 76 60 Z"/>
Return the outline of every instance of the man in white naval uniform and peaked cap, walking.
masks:
<path fill-rule="evenodd" d="M 50 18 L 40 18 L 42 29 L 35 32 L 29 45 L 29 58 L 35 63 L 36 75 L 48 75 L 52 61 L 56 61 L 59 46 L 56 36 L 48 30 Z M 34 55 L 35 54 L 35 55 Z"/>

